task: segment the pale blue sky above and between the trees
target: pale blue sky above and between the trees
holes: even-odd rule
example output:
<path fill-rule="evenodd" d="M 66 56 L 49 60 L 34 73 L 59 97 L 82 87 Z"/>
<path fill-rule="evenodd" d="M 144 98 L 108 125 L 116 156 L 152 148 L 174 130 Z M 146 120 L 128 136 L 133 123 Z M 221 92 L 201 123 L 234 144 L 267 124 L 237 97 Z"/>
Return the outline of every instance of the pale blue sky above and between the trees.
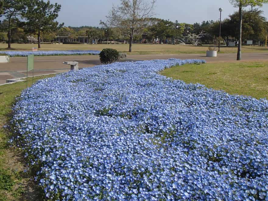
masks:
<path fill-rule="evenodd" d="M 62 5 L 57 21 L 65 26 L 99 26 L 100 20 L 105 21 L 112 5 L 119 5 L 120 0 L 50 0 Z M 195 23 L 203 20 L 220 19 L 219 8 L 222 7 L 222 19 L 237 11 L 229 0 L 157 0 L 155 17 L 176 19 L 181 23 Z M 261 8 L 263 16 L 268 18 L 268 5 Z"/>

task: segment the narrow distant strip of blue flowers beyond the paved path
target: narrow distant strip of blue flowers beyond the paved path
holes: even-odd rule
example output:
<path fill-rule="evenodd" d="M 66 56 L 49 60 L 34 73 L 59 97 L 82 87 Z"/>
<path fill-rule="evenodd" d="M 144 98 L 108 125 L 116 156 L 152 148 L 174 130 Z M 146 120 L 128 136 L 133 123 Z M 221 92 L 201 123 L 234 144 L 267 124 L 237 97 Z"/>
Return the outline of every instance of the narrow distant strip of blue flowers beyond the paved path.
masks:
<path fill-rule="evenodd" d="M 98 55 L 97 50 L 66 50 L 66 51 L 0 51 L 0 54 L 6 54 L 11 57 L 35 56 L 58 56 L 58 55 Z"/>

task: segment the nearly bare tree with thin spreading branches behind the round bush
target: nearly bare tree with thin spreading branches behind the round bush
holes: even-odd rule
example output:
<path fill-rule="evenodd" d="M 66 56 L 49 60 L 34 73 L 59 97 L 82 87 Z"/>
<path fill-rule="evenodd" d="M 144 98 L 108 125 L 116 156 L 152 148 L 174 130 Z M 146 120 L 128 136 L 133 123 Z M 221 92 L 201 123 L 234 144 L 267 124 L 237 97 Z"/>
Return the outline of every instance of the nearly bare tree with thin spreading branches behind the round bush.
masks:
<path fill-rule="evenodd" d="M 154 15 L 155 2 L 156 0 L 121 0 L 121 5 L 113 6 L 106 16 L 109 26 L 118 27 L 123 35 L 129 37 L 129 52 L 134 35 L 146 33 L 150 24 L 149 18 Z"/>

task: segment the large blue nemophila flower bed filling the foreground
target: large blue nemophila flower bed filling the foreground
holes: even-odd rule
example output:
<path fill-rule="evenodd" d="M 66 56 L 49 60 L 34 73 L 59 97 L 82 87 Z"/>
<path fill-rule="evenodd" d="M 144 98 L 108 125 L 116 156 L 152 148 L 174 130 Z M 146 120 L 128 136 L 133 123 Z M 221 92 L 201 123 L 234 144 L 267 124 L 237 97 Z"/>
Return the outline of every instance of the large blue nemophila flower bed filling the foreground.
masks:
<path fill-rule="evenodd" d="M 268 199 L 268 101 L 119 62 L 24 90 L 13 123 L 47 198 Z"/>

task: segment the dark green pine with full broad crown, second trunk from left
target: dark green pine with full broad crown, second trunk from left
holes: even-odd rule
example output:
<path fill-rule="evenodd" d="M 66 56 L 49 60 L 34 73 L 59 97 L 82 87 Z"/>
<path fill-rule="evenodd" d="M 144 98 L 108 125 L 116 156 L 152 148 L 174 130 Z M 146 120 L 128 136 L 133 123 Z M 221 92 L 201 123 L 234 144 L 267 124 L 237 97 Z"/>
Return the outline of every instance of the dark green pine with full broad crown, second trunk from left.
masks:
<path fill-rule="evenodd" d="M 38 48 L 41 48 L 41 31 L 56 30 L 58 22 L 54 21 L 58 17 L 61 5 L 50 1 L 29 0 L 27 2 L 27 10 L 23 13 L 23 17 L 27 20 L 27 25 L 34 31 L 37 31 Z"/>

